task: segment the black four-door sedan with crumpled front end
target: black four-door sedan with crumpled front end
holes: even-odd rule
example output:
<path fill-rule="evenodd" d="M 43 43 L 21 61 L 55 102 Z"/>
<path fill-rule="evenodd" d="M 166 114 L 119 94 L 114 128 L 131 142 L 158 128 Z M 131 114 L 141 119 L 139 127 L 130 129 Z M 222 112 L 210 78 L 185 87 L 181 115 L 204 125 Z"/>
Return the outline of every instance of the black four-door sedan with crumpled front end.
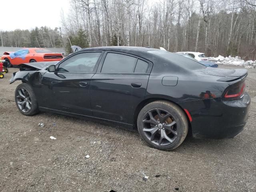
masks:
<path fill-rule="evenodd" d="M 233 138 L 246 124 L 247 70 L 208 68 L 163 50 L 96 47 L 60 62 L 20 64 L 10 83 L 24 115 L 48 111 L 137 129 L 150 146 L 172 150 L 186 138 Z"/>

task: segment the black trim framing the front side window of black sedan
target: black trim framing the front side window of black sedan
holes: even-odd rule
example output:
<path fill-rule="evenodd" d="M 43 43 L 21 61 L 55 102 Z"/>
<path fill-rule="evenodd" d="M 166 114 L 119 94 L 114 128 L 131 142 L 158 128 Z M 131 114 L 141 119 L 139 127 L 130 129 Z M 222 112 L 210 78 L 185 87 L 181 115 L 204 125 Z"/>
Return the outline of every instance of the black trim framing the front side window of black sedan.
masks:
<path fill-rule="evenodd" d="M 90 72 L 90 73 L 81 73 L 81 72 L 64 72 L 64 71 L 58 71 L 59 66 L 60 66 L 64 61 L 68 60 L 69 58 L 71 58 L 71 57 L 73 57 L 73 56 L 75 56 L 75 55 L 77 55 L 77 54 L 90 53 L 90 52 L 98 52 L 98 53 L 101 53 L 100 56 L 99 56 L 99 58 L 98 58 L 98 60 L 97 60 L 97 62 L 96 62 L 96 64 L 95 64 L 95 66 L 94 66 L 94 68 L 93 68 L 93 70 L 92 70 L 92 72 Z M 70 54 L 69 56 L 67 56 L 66 58 L 64 58 L 63 60 L 61 60 L 61 61 L 56 65 L 56 72 L 57 72 L 57 73 L 65 73 L 65 74 L 66 74 L 66 73 L 69 73 L 69 74 L 95 74 L 96 71 L 97 71 L 98 65 L 99 65 L 99 63 L 100 63 L 100 60 L 102 59 L 103 54 L 104 54 L 104 51 L 102 51 L 102 50 L 74 52 L 73 54 Z"/>

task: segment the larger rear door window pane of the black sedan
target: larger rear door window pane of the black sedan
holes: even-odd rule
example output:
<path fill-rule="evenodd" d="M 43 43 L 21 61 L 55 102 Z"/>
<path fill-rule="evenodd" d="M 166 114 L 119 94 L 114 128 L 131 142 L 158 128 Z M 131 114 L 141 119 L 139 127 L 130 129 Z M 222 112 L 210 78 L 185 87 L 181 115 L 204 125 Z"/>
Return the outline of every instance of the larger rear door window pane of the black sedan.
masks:
<path fill-rule="evenodd" d="M 117 54 L 117 53 L 108 53 L 101 72 L 102 73 L 132 73 L 134 70 L 136 58 Z"/>

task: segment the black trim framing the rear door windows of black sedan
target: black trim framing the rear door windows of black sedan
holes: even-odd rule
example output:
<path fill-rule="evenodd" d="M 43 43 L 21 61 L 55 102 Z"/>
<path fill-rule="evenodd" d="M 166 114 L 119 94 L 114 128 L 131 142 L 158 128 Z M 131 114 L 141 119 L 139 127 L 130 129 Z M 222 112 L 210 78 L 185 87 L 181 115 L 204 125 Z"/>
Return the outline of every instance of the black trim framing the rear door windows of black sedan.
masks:
<path fill-rule="evenodd" d="M 103 64 L 104 64 L 104 61 L 106 59 L 106 56 L 108 53 L 115 53 L 115 54 L 122 54 L 122 55 L 126 55 L 126 56 L 131 56 L 131 57 L 134 57 L 136 58 L 135 60 L 135 65 L 134 65 L 134 68 L 132 70 L 132 72 L 108 72 L 108 73 L 102 73 L 101 70 L 102 70 L 102 67 L 103 67 Z M 147 62 L 148 63 L 148 69 L 146 71 L 146 73 L 142 73 L 142 72 L 134 72 L 135 68 L 136 68 L 136 65 L 137 65 L 137 62 L 138 62 L 138 59 L 144 61 L 144 62 Z M 97 69 L 97 72 L 96 74 L 150 74 L 151 73 L 151 70 L 152 70 L 152 67 L 153 67 L 153 63 L 144 59 L 144 58 L 141 58 L 139 56 L 136 56 L 136 55 L 132 55 L 132 54 L 128 54 L 128 53 L 124 53 L 124 52 L 117 52 L 117 51 L 105 51 L 104 52 L 104 55 L 102 56 L 102 59 L 100 61 L 100 64 L 98 66 L 98 69 Z"/>

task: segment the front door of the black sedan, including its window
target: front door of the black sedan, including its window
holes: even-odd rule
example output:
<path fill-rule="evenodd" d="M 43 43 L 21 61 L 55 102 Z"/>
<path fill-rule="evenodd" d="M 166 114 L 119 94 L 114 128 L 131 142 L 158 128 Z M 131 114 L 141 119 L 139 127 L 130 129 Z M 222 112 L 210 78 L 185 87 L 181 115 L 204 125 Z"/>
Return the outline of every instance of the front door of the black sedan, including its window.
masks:
<path fill-rule="evenodd" d="M 102 52 L 78 52 L 60 62 L 56 72 L 42 78 L 39 106 L 85 116 L 92 116 L 89 87 Z M 51 97 L 49 97 L 49 95 Z"/>

